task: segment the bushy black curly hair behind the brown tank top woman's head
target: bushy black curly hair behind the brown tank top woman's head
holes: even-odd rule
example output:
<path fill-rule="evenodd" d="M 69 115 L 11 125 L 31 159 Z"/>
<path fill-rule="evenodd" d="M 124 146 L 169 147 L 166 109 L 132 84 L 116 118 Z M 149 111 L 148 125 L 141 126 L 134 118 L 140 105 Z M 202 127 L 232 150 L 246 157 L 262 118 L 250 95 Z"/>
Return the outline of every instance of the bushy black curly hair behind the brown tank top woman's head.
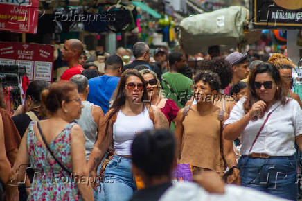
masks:
<path fill-rule="evenodd" d="M 224 60 L 224 58 L 213 58 L 211 60 L 204 60 L 198 70 L 202 71 L 212 71 L 213 73 L 217 73 L 220 78 L 220 89 L 224 89 L 231 83 L 233 78 L 233 69 L 230 66 L 229 62 Z"/>

